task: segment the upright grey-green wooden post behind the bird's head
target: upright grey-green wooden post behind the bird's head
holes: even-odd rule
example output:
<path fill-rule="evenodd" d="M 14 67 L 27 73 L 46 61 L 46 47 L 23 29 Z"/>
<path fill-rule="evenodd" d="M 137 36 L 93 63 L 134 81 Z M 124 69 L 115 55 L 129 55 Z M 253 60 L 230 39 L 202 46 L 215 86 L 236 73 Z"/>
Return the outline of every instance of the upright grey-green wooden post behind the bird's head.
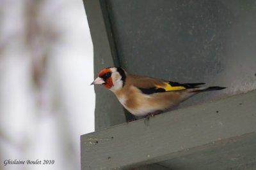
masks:
<path fill-rule="evenodd" d="M 115 43 L 111 36 L 111 27 L 104 1 L 84 0 L 93 42 L 93 59 L 95 78 L 105 67 L 118 66 Z M 125 122 L 124 108 L 109 90 L 95 86 L 95 129 L 102 129 Z M 108 102 L 106 102 L 108 101 Z"/>

